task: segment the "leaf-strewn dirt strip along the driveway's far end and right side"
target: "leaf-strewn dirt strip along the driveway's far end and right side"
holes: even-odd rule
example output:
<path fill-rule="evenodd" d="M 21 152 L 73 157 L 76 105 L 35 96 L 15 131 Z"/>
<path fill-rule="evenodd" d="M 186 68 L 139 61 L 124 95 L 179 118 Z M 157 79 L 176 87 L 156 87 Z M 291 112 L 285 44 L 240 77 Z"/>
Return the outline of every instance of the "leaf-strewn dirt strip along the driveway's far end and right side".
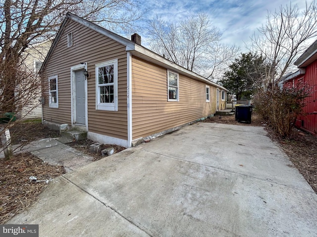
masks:
<path fill-rule="evenodd" d="M 276 135 L 256 112 L 252 113 L 251 124 L 236 121 L 234 115 L 215 116 L 204 120 L 204 122 L 264 126 L 267 136 L 280 145 L 294 166 L 317 193 L 317 136 L 294 128 L 290 139 L 282 138 Z"/>

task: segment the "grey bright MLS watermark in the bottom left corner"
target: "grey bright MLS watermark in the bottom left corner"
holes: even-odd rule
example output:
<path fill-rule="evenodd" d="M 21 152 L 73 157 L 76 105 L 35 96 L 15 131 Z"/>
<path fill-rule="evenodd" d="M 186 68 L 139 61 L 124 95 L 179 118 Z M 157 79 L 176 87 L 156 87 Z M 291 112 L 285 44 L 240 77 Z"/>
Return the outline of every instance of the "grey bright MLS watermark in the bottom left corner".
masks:
<path fill-rule="evenodd" d="M 0 237 L 39 237 L 39 225 L 0 225 Z"/>

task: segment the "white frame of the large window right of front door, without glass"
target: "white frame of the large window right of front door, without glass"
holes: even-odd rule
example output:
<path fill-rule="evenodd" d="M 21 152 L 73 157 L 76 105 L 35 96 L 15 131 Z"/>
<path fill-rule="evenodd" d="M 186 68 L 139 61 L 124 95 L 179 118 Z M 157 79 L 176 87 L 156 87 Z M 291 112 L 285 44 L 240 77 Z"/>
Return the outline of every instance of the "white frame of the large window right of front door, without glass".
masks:
<path fill-rule="evenodd" d="M 99 84 L 99 68 L 113 64 L 113 83 Z M 118 111 L 118 60 L 114 59 L 95 65 L 96 70 L 96 110 Z M 100 101 L 100 86 L 113 84 L 113 103 L 103 103 Z"/>

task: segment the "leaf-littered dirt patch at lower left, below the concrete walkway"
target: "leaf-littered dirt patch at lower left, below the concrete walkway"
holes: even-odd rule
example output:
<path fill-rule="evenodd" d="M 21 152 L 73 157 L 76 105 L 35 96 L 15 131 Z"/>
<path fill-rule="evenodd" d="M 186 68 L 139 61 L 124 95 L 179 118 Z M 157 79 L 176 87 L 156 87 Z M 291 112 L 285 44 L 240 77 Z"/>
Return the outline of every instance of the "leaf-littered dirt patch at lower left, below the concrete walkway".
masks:
<path fill-rule="evenodd" d="M 63 173 L 63 166 L 49 165 L 30 153 L 0 159 L 0 224 L 33 204 L 48 182 Z"/>

